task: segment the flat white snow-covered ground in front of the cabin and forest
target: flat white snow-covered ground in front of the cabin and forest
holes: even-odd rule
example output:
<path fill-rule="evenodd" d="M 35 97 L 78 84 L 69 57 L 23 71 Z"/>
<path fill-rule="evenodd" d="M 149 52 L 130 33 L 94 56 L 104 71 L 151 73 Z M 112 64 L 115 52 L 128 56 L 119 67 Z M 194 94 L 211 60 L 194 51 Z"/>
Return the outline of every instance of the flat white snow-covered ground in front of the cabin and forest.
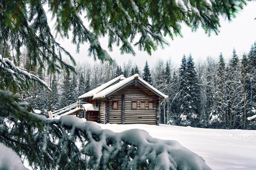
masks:
<path fill-rule="evenodd" d="M 256 130 L 221 130 L 171 125 L 98 124 L 121 132 L 143 129 L 159 139 L 176 140 L 203 157 L 213 170 L 256 170 Z"/>

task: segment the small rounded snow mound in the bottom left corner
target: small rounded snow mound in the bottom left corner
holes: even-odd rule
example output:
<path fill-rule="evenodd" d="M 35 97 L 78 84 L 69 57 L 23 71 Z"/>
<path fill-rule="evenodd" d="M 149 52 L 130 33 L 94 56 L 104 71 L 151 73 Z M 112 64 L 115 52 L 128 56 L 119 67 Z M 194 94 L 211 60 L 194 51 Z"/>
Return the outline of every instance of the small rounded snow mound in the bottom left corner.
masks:
<path fill-rule="evenodd" d="M 28 170 L 20 157 L 9 147 L 0 143 L 0 170 Z"/>

